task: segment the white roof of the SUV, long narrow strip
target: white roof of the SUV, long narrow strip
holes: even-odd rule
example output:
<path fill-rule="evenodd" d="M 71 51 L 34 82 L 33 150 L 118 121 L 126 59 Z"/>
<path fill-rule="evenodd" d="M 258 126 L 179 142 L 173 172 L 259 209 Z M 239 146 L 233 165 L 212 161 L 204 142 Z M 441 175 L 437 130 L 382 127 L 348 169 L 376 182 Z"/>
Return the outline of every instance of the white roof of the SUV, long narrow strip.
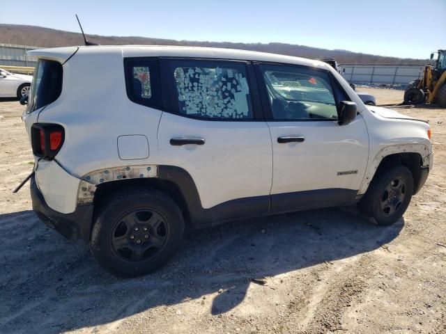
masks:
<path fill-rule="evenodd" d="M 330 65 L 322 61 L 307 58 L 270 54 L 266 52 L 225 49 L 217 47 L 184 47 L 171 45 L 91 45 L 79 47 L 58 47 L 28 51 L 38 58 L 67 59 L 77 50 L 78 54 L 119 53 L 123 57 L 165 56 L 187 58 L 213 58 L 236 61 L 262 61 L 270 63 L 288 63 L 328 69 Z"/>

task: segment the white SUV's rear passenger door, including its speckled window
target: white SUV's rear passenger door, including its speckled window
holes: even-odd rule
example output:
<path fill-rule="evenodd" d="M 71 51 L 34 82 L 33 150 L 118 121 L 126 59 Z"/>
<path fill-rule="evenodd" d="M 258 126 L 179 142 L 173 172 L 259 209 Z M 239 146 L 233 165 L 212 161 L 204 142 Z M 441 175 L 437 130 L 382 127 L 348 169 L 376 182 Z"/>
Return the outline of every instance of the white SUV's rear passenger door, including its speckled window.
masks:
<path fill-rule="evenodd" d="M 160 65 L 160 164 L 190 174 L 210 221 L 268 212 L 272 148 L 252 66 L 190 58 Z"/>

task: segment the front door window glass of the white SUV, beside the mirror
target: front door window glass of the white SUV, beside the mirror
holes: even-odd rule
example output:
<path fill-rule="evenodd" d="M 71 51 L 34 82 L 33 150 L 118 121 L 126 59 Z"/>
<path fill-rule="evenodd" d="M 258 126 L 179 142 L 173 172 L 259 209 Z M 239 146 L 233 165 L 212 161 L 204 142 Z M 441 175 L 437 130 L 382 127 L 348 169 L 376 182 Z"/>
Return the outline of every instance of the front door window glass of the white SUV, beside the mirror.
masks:
<path fill-rule="evenodd" d="M 261 65 L 261 73 L 275 120 L 337 120 L 337 99 L 328 72 Z"/>

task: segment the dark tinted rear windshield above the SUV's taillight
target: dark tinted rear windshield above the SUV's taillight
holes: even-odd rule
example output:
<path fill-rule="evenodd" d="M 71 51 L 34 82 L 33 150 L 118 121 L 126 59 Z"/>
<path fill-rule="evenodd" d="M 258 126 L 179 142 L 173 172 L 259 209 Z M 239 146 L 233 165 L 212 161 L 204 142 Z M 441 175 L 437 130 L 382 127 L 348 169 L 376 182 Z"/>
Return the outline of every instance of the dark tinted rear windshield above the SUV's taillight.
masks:
<path fill-rule="evenodd" d="M 61 63 L 39 60 L 34 70 L 28 112 L 56 101 L 62 92 L 63 70 Z"/>

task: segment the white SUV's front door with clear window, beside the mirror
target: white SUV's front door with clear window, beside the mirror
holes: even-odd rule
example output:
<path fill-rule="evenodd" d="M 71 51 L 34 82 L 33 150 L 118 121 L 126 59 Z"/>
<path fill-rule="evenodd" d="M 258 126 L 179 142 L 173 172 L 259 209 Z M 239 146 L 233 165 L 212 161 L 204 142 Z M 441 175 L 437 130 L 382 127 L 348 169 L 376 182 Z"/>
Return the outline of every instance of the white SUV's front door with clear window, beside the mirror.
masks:
<path fill-rule="evenodd" d="M 328 70 L 256 64 L 272 138 L 271 211 L 350 202 L 367 167 L 369 137 L 360 114 L 337 122 L 348 100 Z"/>

